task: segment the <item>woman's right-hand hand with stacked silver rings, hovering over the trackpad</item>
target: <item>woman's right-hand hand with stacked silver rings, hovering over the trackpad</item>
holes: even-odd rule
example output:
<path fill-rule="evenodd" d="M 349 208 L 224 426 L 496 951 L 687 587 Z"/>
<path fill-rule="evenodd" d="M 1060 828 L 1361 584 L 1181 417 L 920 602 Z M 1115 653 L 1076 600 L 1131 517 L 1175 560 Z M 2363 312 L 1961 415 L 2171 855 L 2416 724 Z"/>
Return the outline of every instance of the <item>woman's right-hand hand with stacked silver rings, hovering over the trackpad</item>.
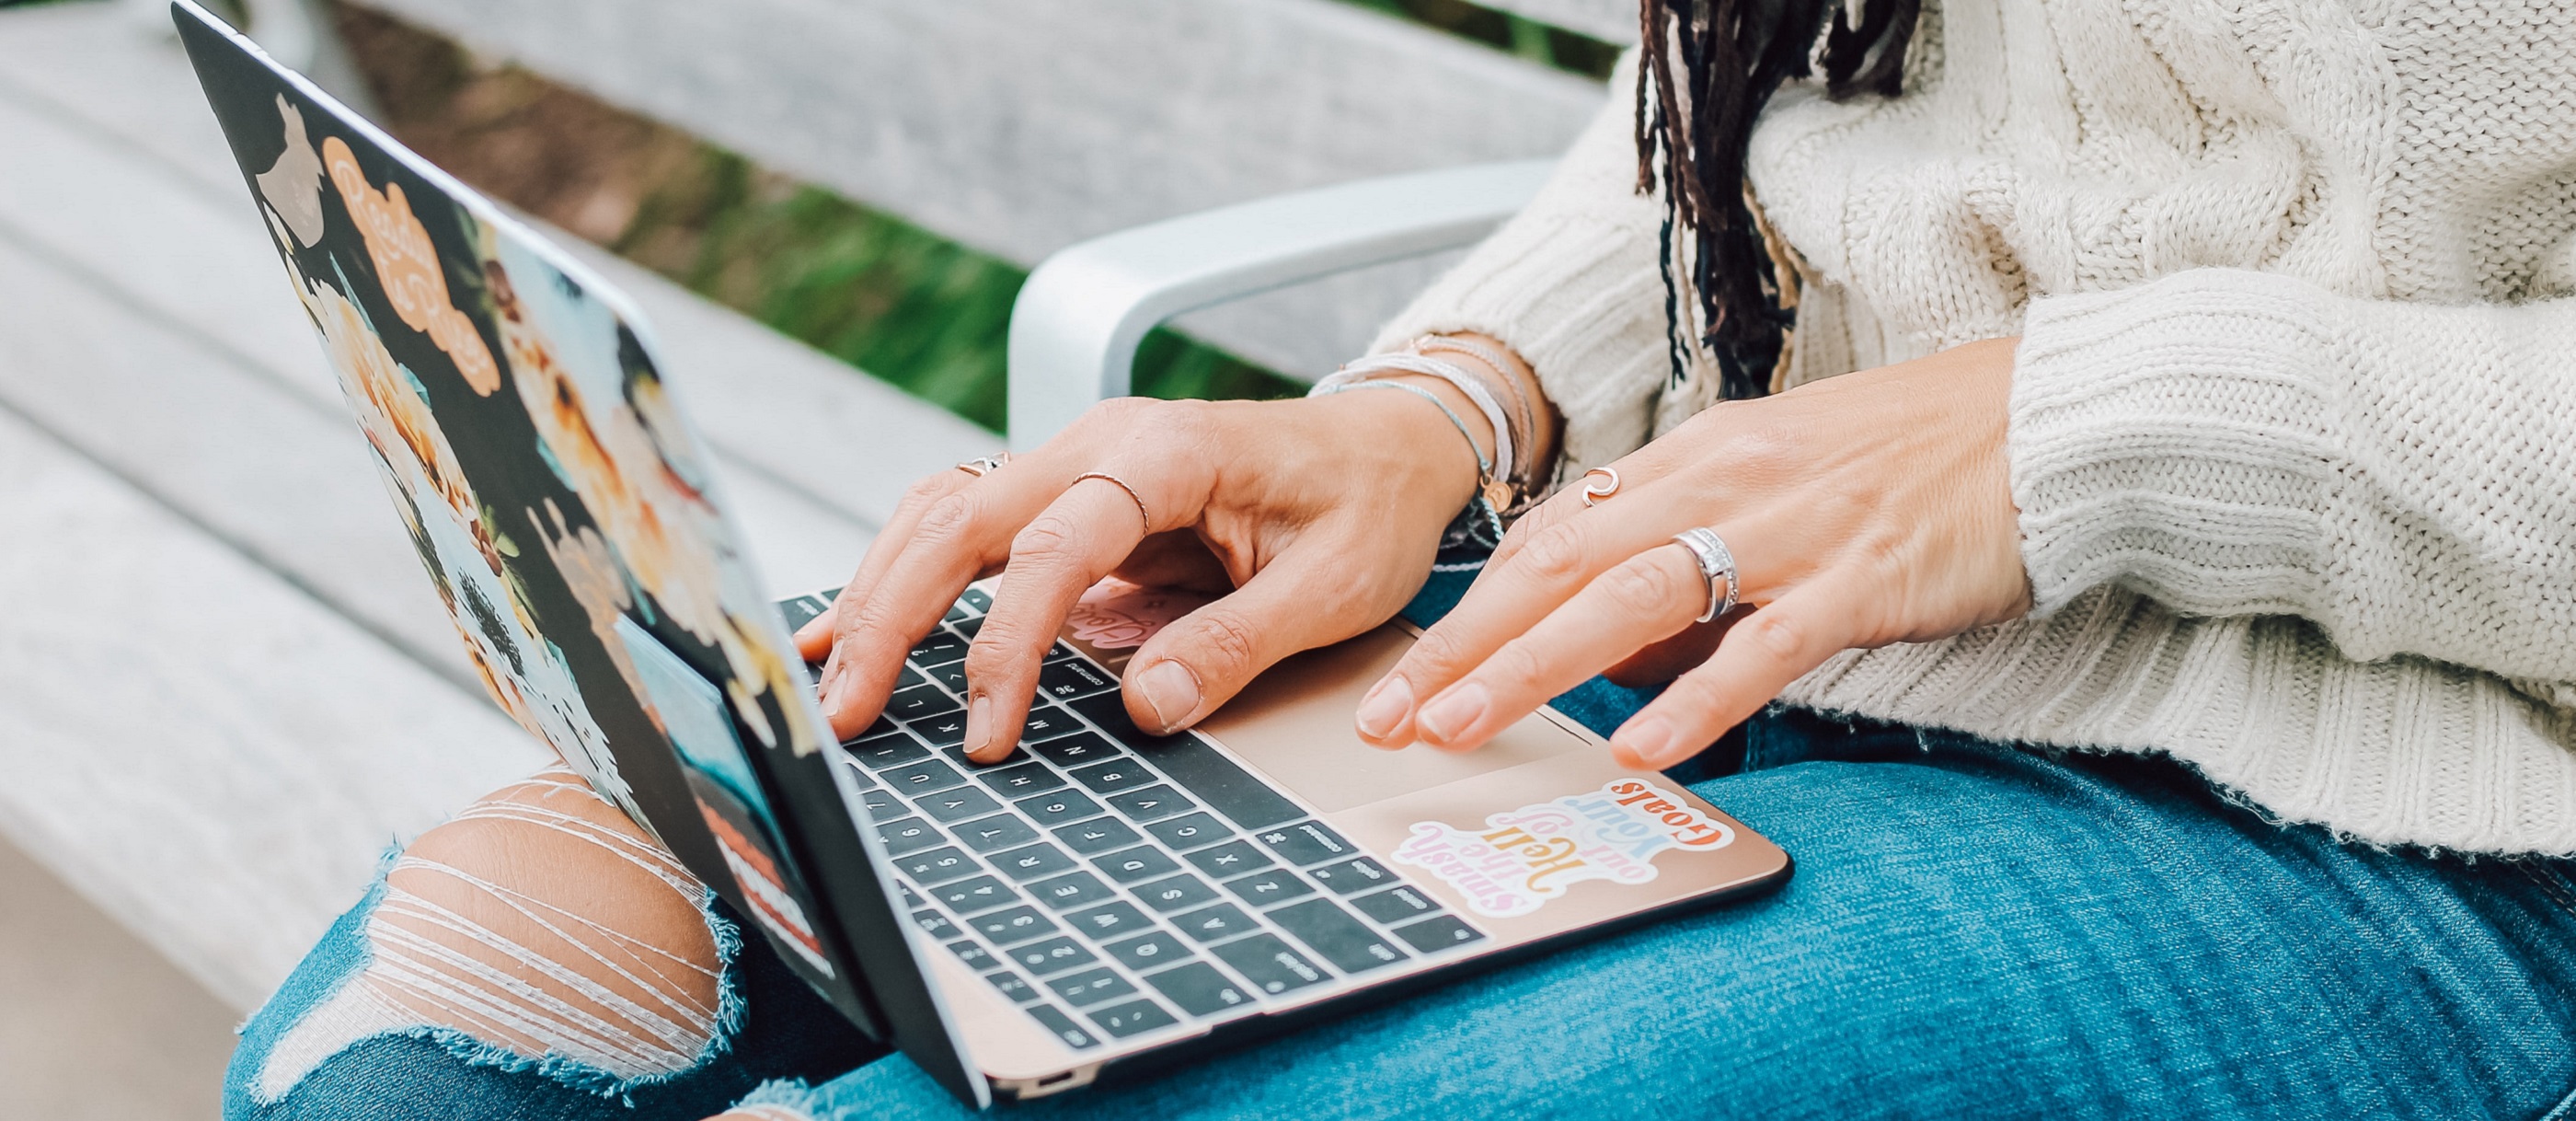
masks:
<path fill-rule="evenodd" d="M 1592 678 L 1680 678 L 1610 752 L 1669 768 L 1842 649 L 1942 639 L 2030 611 L 2004 461 L 2014 340 L 1726 402 L 1566 487 L 1504 536 L 1466 600 L 1360 701 L 1360 737 L 1471 750 Z M 1736 559 L 1741 608 L 1674 533 Z M 1682 673 L 1687 670 L 1687 673 Z"/>

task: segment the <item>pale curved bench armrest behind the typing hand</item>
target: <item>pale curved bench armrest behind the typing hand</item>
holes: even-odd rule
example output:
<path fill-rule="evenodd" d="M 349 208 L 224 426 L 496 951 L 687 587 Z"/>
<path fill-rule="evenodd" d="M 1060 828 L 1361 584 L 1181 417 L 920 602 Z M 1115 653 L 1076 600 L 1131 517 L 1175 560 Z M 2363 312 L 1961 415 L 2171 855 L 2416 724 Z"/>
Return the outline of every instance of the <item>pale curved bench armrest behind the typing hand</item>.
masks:
<path fill-rule="evenodd" d="M 1486 162 L 1257 198 L 1095 237 L 1038 263 L 1010 309 L 1010 446 L 1126 397 L 1136 345 L 1208 304 L 1484 240 L 1553 160 Z"/>

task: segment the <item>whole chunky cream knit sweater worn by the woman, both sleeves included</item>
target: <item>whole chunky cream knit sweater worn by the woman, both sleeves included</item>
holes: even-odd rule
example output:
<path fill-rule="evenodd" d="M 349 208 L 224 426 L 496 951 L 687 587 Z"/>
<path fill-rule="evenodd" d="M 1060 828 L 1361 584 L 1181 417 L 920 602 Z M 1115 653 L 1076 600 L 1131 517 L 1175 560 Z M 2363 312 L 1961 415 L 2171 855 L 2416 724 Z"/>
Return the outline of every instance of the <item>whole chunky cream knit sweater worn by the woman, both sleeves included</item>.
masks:
<path fill-rule="evenodd" d="M 1713 381 L 1667 389 L 1631 80 L 1383 335 L 1507 340 L 1574 472 Z M 2576 5 L 1947 0 L 1901 98 L 1777 98 L 1752 180 L 1803 258 L 1788 381 L 2022 335 L 2038 611 L 1788 701 L 2576 853 Z"/>

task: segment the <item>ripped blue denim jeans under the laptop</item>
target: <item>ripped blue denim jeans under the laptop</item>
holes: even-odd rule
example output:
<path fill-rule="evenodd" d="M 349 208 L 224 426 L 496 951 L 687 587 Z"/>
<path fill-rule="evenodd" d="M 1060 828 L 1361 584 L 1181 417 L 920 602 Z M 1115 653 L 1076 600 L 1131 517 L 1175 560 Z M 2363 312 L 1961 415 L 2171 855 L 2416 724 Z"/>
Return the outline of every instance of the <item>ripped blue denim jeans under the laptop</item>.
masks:
<path fill-rule="evenodd" d="M 1607 683 L 1561 701 L 1605 729 L 1636 704 Z M 2576 1103 L 2568 861 L 2347 845 L 2164 758 L 1801 709 L 1674 778 L 1785 845 L 1788 886 L 1005 1111 L 2558 1121 Z M 281 1049 L 366 966 L 381 897 L 245 1026 L 227 1118 L 966 1116 L 721 905 L 724 1008 L 672 1069 L 417 1026 Z"/>

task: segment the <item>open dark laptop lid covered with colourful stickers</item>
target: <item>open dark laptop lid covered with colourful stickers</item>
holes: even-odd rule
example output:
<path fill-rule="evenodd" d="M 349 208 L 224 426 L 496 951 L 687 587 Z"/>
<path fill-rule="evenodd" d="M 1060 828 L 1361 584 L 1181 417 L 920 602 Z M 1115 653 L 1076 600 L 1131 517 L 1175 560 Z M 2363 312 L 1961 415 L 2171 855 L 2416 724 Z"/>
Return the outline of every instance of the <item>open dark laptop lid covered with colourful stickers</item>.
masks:
<path fill-rule="evenodd" d="M 987 1106 L 641 314 L 196 3 L 173 18 L 492 701 Z"/>

